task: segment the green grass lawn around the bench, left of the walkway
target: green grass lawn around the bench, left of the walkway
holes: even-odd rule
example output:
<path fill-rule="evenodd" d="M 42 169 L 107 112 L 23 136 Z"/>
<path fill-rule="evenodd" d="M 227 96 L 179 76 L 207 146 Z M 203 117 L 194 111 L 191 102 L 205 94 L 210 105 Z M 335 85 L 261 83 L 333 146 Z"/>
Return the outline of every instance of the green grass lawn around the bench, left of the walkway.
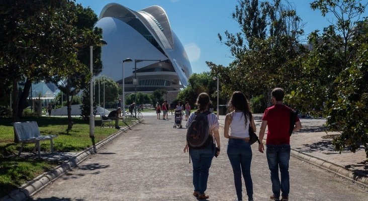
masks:
<path fill-rule="evenodd" d="M 20 144 L 14 143 L 11 119 L 0 120 L 0 197 L 2 197 L 25 181 L 56 167 L 58 163 L 18 157 Z M 54 138 L 55 152 L 79 152 L 92 145 L 89 138 L 89 122 L 78 117 L 72 119 L 73 128 L 70 131 L 66 131 L 67 118 L 26 117 L 20 122 L 25 121 L 36 121 L 41 135 L 58 135 L 57 138 Z M 126 123 L 131 125 L 134 121 Z M 117 132 L 114 128 L 114 121 L 112 122 L 113 128 L 101 128 L 100 125 L 100 117 L 96 117 L 94 132 L 96 143 Z M 125 123 L 119 121 L 119 125 L 125 126 Z M 23 152 L 31 152 L 33 148 L 34 144 L 26 144 Z M 41 142 L 41 151 L 50 151 L 50 141 Z"/>

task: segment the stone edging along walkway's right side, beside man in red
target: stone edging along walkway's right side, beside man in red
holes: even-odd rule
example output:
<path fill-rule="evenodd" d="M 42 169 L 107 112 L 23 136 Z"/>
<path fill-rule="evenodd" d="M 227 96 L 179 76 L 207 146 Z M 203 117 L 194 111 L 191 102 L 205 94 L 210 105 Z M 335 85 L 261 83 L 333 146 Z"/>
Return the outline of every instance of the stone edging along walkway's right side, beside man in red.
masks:
<path fill-rule="evenodd" d="M 316 156 L 312 156 L 310 154 L 301 152 L 301 151 L 297 151 L 293 148 L 291 148 L 291 152 L 290 152 L 293 156 L 309 162 L 311 164 L 314 164 L 316 166 L 321 167 L 322 169 L 328 170 L 330 172 L 333 172 L 337 175 L 343 176 L 347 179 L 350 179 L 352 181 L 358 182 L 359 184 L 363 185 L 364 187 L 368 187 L 368 177 L 366 177 L 365 175 L 359 174 L 359 173 L 354 173 L 351 170 L 346 169 L 345 167 L 335 164 L 333 162 L 329 162 L 327 160 L 318 158 Z M 354 174 L 358 174 L 358 175 L 354 175 Z"/>

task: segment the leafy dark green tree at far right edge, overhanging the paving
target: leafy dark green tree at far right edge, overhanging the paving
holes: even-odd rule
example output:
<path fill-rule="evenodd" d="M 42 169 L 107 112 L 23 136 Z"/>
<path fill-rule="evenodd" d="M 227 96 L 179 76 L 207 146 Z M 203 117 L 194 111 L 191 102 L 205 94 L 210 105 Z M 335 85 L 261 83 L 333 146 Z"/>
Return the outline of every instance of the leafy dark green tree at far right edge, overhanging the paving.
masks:
<path fill-rule="evenodd" d="M 368 39 L 368 35 L 366 36 Z M 368 42 L 368 41 L 367 41 Z M 329 108 L 327 124 L 341 134 L 333 140 L 335 150 L 345 146 L 355 153 L 363 145 L 368 158 L 368 43 L 357 51 L 356 60 L 343 70 L 335 82 L 337 100 Z"/>

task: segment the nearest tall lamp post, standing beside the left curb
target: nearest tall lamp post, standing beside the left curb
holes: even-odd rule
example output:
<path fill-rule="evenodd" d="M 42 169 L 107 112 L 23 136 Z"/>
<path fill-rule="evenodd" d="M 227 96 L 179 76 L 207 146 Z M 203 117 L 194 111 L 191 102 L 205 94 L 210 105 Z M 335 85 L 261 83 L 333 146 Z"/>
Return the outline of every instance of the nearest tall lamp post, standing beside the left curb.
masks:
<path fill-rule="evenodd" d="M 98 46 L 107 45 L 107 42 L 102 40 Z M 94 152 L 97 153 L 96 144 L 95 144 L 95 116 L 94 116 L 94 97 L 93 97 L 93 83 L 92 77 L 94 76 L 93 73 L 93 49 L 94 46 L 89 46 L 89 71 L 91 74 L 91 80 L 89 81 L 89 137 L 92 140 L 92 145 Z"/>

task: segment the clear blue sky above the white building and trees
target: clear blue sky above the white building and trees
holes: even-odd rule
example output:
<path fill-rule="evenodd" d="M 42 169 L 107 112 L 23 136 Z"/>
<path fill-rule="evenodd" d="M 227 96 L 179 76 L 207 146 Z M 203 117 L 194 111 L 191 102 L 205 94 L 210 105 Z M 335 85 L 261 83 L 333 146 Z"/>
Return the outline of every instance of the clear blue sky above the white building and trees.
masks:
<path fill-rule="evenodd" d="M 289 2 L 306 23 L 306 34 L 316 29 L 323 30 L 323 27 L 330 25 L 328 20 L 333 20 L 332 16 L 323 18 L 320 11 L 313 11 L 309 5 L 313 0 Z M 238 24 L 231 18 L 237 0 L 76 0 L 76 3 L 91 8 L 97 16 L 109 3 L 118 3 L 134 11 L 160 6 L 168 16 L 171 29 L 185 47 L 194 73 L 209 71 L 206 61 L 228 66 L 233 60 L 229 48 L 220 43 L 217 34 L 224 36 L 226 30 L 239 32 Z M 368 16 L 367 9 L 364 16 Z"/>

